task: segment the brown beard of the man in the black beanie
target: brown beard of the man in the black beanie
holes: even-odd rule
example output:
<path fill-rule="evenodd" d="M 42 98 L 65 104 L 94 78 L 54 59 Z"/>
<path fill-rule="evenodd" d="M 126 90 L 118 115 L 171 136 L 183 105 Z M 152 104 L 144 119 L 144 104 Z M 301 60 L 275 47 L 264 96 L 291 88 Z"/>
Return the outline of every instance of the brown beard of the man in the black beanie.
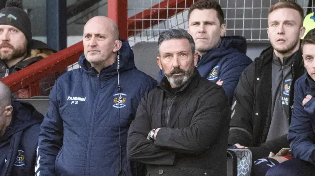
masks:
<path fill-rule="evenodd" d="M 2 48 L 7 47 L 13 50 L 13 52 L 3 52 L 1 51 Z M 23 45 L 19 45 L 17 48 L 13 47 L 11 44 L 9 43 L 2 43 L 0 45 L 0 59 L 4 60 L 4 61 L 9 61 L 9 60 L 13 60 L 16 58 L 20 58 L 22 56 L 25 55 L 27 51 L 27 44 Z"/>

